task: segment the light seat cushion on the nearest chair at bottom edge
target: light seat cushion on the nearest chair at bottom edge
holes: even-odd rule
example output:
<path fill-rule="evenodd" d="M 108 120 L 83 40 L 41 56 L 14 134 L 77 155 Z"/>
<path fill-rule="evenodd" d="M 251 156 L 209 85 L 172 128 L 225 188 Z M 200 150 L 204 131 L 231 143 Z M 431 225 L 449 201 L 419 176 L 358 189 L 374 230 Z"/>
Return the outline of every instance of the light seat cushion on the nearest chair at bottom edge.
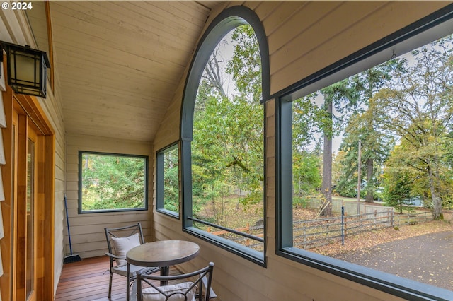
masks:
<path fill-rule="evenodd" d="M 174 285 L 164 285 L 159 286 L 159 289 L 162 290 L 167 295 L 168 301 L 195 301 L 195 291 L 197 290 L 197 285 L 195 285 L 187 294 L 187 299 L 185 299 L 185 293 L 190 285 L 193 285 L 193 282 L 183 282 Z M 142 299 L 147 301 L 165 301 L 166 296 L 159 293 L 155 288 L 145 288 L 142 290 Z"/>

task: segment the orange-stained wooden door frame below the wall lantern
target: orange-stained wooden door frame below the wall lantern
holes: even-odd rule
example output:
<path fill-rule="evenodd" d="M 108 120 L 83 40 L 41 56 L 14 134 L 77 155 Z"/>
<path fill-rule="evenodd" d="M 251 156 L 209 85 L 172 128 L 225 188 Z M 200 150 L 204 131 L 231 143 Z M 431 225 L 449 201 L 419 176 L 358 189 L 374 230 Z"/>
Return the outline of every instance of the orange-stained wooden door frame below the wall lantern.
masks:
<path fill-rule="evenodd" d="M 4 275 L 0 277 L 0 290 L 3 300 L 25 300 L 23 293 L 23 265 L 16 233 L 21 220 L 18 220 L 18 206 L 13 196 L 18 190 L 14 180 L 13 164 L 13 114 L 26 117 L 38 131 L 38 148 L 36 149 L 38 183 L 35 203 L 35 293 L 36 300 L 53 300 L 54 298 L 54 259 L 55 259 L 55 131 L 42 110 L 37 98 L 30 95 L 19 95 L 6 85 L 2 93 L 6 128 L 1 129 L 4 141 L 6 164 L 1 165 L 5 201 L 1 201 L 4 219 L 5 237 L 0 240 Z M 17 134 L 16 134 L 17 136 Z M 26 137 L 26 135 L 25 135 Z M 22 159 L 23 160 L 23 159 Z M 19 255 L 18 255 L 19 254 Z"/>

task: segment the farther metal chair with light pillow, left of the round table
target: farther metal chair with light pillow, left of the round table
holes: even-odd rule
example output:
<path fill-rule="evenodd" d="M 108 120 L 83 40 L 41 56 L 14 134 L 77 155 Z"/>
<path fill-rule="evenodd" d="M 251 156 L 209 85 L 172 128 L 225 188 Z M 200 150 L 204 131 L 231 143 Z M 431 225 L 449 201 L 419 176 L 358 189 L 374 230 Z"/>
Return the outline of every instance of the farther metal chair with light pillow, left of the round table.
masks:
<path fill-rule="evenodd" d="M 129 300 L 130 285 L 135 280 L 137 271 L 154 273 L 160 271 L 159 267 L 144 267 L 127 264 L 126 253 L 133 247 L 144 244 L 142 225 L 136 223 L 118 228 L 104 228 L 107 240 L 108 252 L 105 253 L 110 259 L 110 281 L 108 284 L 108 298 L 112 297 L 113 274 L 126 277 L 127 300 Z M 129 274 L 127 273 L 129 266 Z"/>

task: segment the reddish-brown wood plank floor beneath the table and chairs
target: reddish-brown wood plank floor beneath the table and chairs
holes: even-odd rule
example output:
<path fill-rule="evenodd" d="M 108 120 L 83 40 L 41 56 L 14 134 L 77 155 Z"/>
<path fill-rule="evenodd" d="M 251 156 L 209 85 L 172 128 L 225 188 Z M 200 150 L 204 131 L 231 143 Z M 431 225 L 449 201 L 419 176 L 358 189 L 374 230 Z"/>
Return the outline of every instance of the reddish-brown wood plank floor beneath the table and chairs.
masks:
<path fill-rule="evenodd" d="M 107 301 L 108 299 L 108 257 L 100 256 L 64 264 L 59 278 L 55 301 Z M 170 273 L 178 273 L 171 267 Z M 112 298 L 126 300 L 126 278 L 113 274 Z"/>

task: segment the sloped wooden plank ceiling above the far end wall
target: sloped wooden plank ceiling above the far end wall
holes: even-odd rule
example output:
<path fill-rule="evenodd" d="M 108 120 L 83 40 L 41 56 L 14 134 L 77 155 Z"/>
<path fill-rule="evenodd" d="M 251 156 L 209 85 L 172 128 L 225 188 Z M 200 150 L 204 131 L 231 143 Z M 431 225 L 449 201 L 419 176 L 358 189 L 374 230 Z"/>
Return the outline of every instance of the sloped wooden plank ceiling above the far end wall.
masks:
<path fill-rule="evenodd" d="M 222 1 L 50 1 L 55 91 L 70 134 L 153 141 Z"/>

